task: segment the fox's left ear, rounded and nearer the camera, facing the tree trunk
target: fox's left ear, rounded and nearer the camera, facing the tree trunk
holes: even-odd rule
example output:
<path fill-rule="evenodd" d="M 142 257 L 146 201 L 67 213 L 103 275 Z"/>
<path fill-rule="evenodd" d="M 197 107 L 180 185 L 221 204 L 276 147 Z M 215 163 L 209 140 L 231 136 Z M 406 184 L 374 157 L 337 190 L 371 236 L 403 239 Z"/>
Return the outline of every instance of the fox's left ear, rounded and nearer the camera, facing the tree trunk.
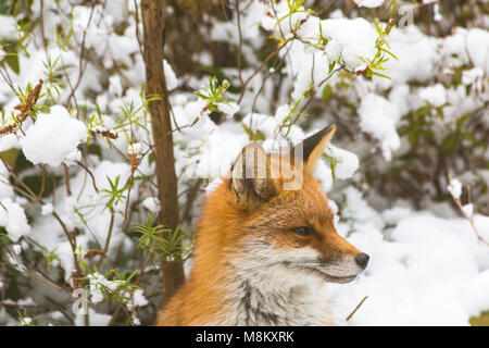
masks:
<path fill-rule="evenodd" d="M 238 202 L 258 207 L 276 195 L 271 178 L 269 158 L 256 144 L 249 144 L 236 159 L 231 167 L 230 186 Z"/>

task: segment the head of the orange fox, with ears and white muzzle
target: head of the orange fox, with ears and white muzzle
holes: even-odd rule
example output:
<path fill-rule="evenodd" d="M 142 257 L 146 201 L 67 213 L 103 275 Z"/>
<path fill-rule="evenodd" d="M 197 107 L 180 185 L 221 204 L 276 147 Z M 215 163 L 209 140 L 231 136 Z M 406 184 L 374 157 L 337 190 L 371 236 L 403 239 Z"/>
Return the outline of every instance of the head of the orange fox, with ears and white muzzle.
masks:
<path fill-rule="evenodd" d="M 347 283 L 365 270 L 368 256 L 337 233 L 327 197 L 313 177 L 335 129 L 326 127 L 285 156 L 246 146 L 221 187 L 224 192 L 206 204 L 206 213 L 225 215 L 223 226 L 209 228 L 225 232 L 214 243 L 234 256 L 243 276 Z"/>

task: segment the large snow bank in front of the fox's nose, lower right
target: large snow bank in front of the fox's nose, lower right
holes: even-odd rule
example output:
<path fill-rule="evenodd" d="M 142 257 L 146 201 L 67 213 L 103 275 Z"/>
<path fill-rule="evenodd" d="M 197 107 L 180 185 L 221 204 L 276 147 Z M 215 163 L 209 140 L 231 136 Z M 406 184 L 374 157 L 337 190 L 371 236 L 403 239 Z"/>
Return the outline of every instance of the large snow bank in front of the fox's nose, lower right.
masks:
<path fill-rule="evenodd" d="M 353 283 L 329 285 L 339 324 L 468 325 L 471 315 L 489 310 L 489 251 L 467 221 L 399 208 L 379 215 L 359 191 L 346 195 L 353 223 L 340 222 L 338 232 L 371 261 Z M 488 238 L 489 217 L 476 215 L 475 224 Z"/>

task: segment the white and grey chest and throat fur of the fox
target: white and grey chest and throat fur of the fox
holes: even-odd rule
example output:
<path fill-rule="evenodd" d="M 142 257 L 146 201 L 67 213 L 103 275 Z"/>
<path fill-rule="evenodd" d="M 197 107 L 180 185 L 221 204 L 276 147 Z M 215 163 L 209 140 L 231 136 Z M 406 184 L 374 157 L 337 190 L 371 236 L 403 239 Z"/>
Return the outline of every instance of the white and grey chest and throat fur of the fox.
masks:
<path fill-rule="evenodd" d="M 277 252 L 266 241 L 252 243 L 244 257 L 226 263 L 226 315 L 211 325 L 310 326 L 333 323 L 326 283 L 290 268 L 313 251 Z M 288 260 L 288 261 L 284 261 Z"/>

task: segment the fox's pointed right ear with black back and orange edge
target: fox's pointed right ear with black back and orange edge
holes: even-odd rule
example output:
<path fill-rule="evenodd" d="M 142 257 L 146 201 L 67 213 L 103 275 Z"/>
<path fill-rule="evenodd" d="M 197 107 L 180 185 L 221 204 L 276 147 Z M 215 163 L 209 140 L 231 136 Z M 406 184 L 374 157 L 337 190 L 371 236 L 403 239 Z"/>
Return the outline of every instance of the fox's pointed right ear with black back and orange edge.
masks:
<path fill-rule="evenodd" d="M 329 140 L 335 132 L 336 126 L 331 124 L 323 130 L 313 134 L 300 144 L 300 146 L 302 146 L 302 160 L 304 173 L 306 175 L 312 175 L 314 173 L 317 161 L 326 149 L 326 146 L 329 144 Z M 294 147 L 294 152 L 297 148 L 298 146 Z"/>

